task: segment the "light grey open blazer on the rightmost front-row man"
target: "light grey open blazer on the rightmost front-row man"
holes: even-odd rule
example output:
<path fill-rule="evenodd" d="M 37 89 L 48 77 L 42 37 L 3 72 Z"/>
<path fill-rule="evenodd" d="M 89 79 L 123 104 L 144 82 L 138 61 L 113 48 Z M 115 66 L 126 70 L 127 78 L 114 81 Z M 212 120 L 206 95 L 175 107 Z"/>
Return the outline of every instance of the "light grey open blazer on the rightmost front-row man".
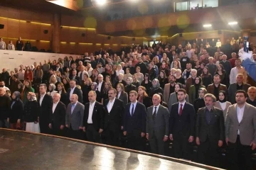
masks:
<path fill-rule="evenodd" d="M 225 120 L 225 137 L 228 137 L 229 142 L 235 143 L 239 130 L 242 145 L 250 145 L 251 142 L 256 143 L 256 108 L 245 103 L 245 111 L 240 123 L 236 109 L 237 104 L 228 107 Z"/>

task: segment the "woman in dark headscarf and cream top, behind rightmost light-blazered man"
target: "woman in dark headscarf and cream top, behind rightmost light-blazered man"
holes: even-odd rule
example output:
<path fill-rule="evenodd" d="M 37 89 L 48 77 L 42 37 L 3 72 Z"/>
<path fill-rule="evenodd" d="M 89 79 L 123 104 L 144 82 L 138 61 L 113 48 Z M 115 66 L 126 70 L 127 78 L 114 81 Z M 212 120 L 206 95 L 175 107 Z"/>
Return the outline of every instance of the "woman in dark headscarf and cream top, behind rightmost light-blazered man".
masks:
<path fill-rule="evenodd" d="M 216 101 L 215 107 L 223 111 L 223 116 L 227 115 L 228 107 L 232 104 L 227 101 L 227 94 L 225 91 L 219 91 L 219 101 Z"/>

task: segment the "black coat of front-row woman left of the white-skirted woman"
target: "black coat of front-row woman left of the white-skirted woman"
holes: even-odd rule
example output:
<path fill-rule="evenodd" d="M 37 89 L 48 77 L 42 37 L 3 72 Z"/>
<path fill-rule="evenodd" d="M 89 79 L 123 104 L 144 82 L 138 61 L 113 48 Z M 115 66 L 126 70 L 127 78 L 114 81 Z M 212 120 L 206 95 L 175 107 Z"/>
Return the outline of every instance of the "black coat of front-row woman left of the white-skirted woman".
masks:
<path fill-rule="evenodd" d="M 14 105 L 10 109 L 9 113 L 9 123 L 17 123 L 18 119 L 23 118 L 23 103 L 21 100 L 15 101 Z"/>

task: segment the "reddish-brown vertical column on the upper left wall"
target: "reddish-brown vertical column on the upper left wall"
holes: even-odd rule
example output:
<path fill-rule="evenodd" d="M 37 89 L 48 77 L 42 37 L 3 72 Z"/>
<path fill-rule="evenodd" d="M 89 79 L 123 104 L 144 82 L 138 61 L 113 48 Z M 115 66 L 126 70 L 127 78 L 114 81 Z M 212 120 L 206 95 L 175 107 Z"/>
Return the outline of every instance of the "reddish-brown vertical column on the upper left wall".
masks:
<path fill-rule="evenodd" d="M 60 14 L 53 14 L 53 52 L 60 52 Z"/>

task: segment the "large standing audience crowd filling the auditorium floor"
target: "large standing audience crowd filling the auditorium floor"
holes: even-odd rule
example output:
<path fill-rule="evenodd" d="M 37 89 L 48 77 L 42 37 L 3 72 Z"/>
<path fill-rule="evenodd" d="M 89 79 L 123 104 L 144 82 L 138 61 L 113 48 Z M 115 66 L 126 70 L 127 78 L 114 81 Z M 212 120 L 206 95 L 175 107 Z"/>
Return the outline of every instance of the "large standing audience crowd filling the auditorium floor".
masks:
<path fill-rule="evenodd" d="M 0 127 L 141 151 L 149 142 L 163 155 L 171 141 L 171 155 L 187 160 L 197 145 L 193 161 L 219 167 L 226 147 L 230 169 L 252 169 L 256 87 L 247 84 L 239 51 L 208 50 L 196 43 L 134 45 L 4 68 Z"/>

